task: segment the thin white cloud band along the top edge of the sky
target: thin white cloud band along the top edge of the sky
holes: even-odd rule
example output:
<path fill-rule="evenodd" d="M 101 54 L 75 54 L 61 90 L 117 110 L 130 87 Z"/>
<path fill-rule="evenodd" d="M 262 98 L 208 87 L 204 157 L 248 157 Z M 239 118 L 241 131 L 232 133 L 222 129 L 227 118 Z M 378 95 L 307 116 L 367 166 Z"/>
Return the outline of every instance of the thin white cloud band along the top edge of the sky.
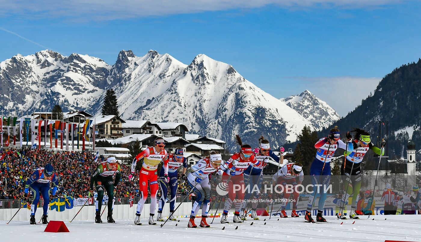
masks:
<path fill-rule="evenodd" d="M 367 8 L 404 0 L 0 0 L 0 16 L 23 14 L 31 18 L 85 21 L 166 16 L 229 9 L 261 8 Z"/>

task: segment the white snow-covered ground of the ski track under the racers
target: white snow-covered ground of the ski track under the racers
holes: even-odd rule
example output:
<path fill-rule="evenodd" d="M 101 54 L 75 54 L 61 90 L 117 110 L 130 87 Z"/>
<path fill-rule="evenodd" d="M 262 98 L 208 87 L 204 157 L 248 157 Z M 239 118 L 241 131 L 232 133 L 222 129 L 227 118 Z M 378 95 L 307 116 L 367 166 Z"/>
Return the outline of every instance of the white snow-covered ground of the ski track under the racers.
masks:
<path fill-rule="evenodd" d="M 252 226 L 250 218 L 242 224 L 221 224 L 220 218 L 215 218 L 211 228 L 207 229 L 187 228 L 188 218 L 181 218 L 180 222 L 168 221 L 162 228 L 159 226 L 162 222 L 156 226 L 136 226 L 133 220 L 116 220 L 116 224 L 65 221 L 69 233 L 43 232 L 45 225 L 29 225 L 29 221 L 12 221 L 8 225 L 6 221 L 0 221 L 0 241 L 421 241 L 420 215 L 375 215 L 370 219 L 362 216 L 360 220 L 326 218 L 330 223 L 304 223 L 301 217 L 279 220 L 278 217 L 270 220 L 269 217 L 260 217 L 261 220 L 253 221 Z M 199 221 L 196 218 L 197 224 Z M 210 221 L 208 218 L 208 223 Z M 147 224 L 147 219 L 142 223 Z M 221 230 L 224 226 L 225 230 Z"/>

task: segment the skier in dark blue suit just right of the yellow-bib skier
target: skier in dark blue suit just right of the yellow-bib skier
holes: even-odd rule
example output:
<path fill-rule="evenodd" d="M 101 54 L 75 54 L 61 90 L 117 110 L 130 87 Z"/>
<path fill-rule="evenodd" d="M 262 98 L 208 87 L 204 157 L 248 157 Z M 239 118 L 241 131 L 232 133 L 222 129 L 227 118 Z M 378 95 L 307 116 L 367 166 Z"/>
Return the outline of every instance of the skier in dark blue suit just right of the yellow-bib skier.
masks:
<path fill-rule="evenodd" d="M 177 147 L 174 154 L 168 154 L 168 176 L 170 177 L 170 182 L 165 182 L 165 169 L 161 168 L 159 173 L 159 186 L 161 189 L 161 198 L 159 200 L 157 221 L 164 221 L 164 219 L 162 218 L 162 210 L 164 208 L 165 201 L 168 196 L 168 189 L 171 193 L 170 220 L 176 220 L 176 218 L 173 217 L 172 213 L 174 212 L 177 197 L 177 188 L 179 187 L 177 171 L 181 166 L 183 167 L 183 176 L 185 176 L 184 174 L 186 173 L 187 169 L 187 159 L 183 156 L 183 148 Z"/>

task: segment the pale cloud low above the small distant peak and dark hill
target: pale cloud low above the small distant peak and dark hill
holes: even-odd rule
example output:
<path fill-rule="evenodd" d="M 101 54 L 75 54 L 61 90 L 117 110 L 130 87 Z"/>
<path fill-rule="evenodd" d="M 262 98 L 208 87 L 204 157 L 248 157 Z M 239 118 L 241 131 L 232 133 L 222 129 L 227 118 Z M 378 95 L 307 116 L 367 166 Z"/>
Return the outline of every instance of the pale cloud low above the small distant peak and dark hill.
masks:
<path fill-rule="evenodd" d="M 381 77 L 285 77 L 296 82 L 345 116 L 370 93 L 374 94 Z"/>

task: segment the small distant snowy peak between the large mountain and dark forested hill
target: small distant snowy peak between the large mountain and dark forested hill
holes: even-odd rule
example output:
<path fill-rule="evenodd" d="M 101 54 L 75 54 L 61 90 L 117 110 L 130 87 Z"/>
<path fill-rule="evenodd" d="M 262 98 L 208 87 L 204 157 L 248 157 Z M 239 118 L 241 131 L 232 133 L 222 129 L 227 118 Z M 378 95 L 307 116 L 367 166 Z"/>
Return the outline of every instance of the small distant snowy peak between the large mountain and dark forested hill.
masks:
<path fill-rule="evenodd" d="M 280 100 L 311 122 L 317 130 L 328 128 L 340 118 L 335 109 L 314 96 L 309 90 Z"/>

